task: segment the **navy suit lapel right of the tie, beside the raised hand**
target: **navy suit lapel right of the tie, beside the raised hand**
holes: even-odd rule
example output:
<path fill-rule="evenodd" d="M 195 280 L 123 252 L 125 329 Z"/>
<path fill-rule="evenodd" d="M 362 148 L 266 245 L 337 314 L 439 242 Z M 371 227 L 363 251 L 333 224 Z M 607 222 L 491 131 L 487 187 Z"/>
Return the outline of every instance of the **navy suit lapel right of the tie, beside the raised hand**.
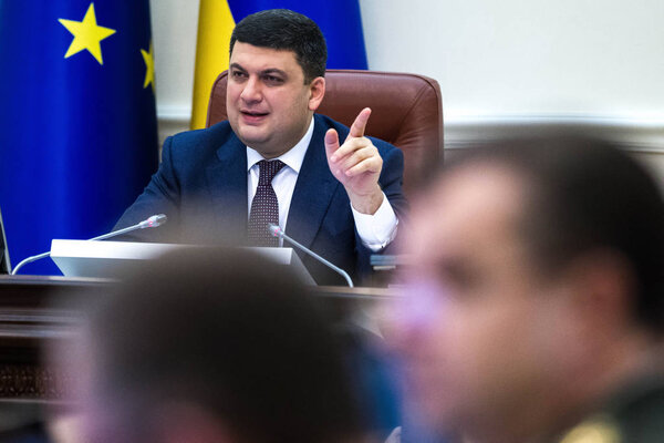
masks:
<path fill-rule="evenodd" d="M 286 231 L 295 240 L 310 247 L 319 231 L 339 182 L 328 166 L 324 136 L 328 130 L 314 115 L 313 136 L 293 190 Z"/>

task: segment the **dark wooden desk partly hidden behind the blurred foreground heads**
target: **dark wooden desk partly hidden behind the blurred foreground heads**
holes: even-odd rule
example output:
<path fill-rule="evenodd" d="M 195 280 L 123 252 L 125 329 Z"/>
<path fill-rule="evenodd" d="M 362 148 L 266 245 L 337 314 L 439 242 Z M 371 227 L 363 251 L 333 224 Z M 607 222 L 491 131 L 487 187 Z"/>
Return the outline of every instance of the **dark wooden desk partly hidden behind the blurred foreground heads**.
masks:
<path fill-rule="evenodd" d="M 42 350 L 54 340 L 66 340 L 82 320 L 73 302 L 59 293 L 103 297 L 113 280 L 40 276 L 0 276 L 0 400 L 58 400 L 66 374 L 43 364 Z M 62 291 L 62 292 L 61 292 Z M 335 319 L 346 318 L 360 306 L 393 300 L 385 288 L 315 287 Z"/>

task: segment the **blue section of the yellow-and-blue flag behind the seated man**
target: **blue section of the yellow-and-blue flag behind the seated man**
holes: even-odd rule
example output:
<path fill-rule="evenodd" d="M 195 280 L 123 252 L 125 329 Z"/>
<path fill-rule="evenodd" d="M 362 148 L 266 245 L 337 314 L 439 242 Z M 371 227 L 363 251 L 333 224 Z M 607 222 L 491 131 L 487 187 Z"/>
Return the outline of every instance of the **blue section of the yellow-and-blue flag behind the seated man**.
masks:
<path fill-rule="evenodd" d="M 328 43 L 329 69 L 366 69 L 357 0 L 228 0 L 236 23 L 263 9 L 284 8 L 315 21 Z"/>

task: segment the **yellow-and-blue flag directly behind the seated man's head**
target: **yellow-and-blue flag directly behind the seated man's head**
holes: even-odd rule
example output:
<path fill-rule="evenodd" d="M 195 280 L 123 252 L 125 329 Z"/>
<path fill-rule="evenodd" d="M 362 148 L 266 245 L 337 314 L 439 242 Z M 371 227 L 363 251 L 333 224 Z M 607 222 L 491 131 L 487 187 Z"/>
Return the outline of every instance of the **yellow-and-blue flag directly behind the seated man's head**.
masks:
<path fill-rule="evenodd" d="M 191 128 L 205 127 L 212 83 L 228 69 L 235 23 L 266 9 L 284 8 L 318 23 L 328 42 L 328 68 L 366 69 L 357 0 L 200 0 Z"/>

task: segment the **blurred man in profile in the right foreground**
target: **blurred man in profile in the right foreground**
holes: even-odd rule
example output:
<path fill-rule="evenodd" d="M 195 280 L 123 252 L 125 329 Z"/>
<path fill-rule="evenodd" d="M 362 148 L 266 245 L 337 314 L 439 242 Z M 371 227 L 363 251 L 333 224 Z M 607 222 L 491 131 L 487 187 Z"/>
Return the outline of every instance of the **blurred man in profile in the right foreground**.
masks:
<path fill-rule="evenodd" d="M 608 143 L 467 152 L 414 205 L 390 339 L 412 403 L 474 443 L 664 441 L 664 204 Z"/>

